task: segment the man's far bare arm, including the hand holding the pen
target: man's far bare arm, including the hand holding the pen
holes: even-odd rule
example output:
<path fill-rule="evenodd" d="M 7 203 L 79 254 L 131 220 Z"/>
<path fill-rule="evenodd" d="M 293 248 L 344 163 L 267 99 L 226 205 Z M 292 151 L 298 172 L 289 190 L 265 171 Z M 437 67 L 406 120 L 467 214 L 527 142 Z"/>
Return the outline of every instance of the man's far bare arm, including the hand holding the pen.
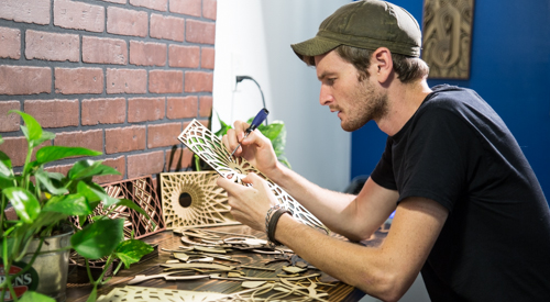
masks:
<path fill-rule="evenodd" d="M 258 131 L 243 138 L 248 124 L 238 121 L 234 126 L 222 137 L 226 147 L 233 149 L 242 142 L 235 155 L 243 156 L 331 231 L 350 239 L 364 239 L 395 210 L 396 191 L 382 188 L 372 179 L 358 197 L 320 188 L 278 163 L 270 139 Z"/>

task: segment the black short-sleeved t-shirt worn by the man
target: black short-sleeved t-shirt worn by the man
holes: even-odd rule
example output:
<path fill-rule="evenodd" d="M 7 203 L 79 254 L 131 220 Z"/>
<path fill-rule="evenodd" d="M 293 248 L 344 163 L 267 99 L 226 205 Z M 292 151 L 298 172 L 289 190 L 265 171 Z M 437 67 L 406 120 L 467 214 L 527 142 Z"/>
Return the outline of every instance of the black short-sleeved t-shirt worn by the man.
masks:
<path fill-rule="evenodd" d="M 422 270 L 433 301 L 550 301 L 550 211 L 519 145 L 470 89 L 432 88 L 371 175 L 449 217 Z"/>

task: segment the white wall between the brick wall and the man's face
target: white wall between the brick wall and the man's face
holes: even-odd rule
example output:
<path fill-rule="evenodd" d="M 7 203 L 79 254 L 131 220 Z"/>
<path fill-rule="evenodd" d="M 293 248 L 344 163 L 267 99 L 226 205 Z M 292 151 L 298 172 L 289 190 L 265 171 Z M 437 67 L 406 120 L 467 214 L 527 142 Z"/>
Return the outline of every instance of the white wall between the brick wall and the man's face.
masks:
<path fill-rule="evenodd" d="M 213 110 L 224 122 L 248 120 L 262 108 L 254 82 L 237 86 L 235 75 L 262 87 L 268 122 L 287 127 L 286 155 L 310 181 L 342 191 L 350 181 L 351 135 L 319 104 L 315 69 L 299 60 L 292 43 L 315 36 L 321 21 L 349 0 L 218 0 Z M 212 119 L 212 130 L 219 124 Z"/>

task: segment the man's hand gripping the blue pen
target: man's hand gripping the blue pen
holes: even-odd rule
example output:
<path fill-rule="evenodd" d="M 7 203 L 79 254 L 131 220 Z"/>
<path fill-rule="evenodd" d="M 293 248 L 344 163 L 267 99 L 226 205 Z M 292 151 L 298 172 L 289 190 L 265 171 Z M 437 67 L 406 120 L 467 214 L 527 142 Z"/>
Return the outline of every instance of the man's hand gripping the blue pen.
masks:
<path fill-rule="evenodd" d="M 272 142 L 260 131 L 253 131 L 246 138 L 244 132 L 249 124 L 237 121 L 234 128 L 228 130 L 228 134 L 221 138 L 223 145 L 232 152 L 241 142 L 241 147 L 237 149 L 235 156 L 242 156 L 260 171 L 270 176 L 277 168 L 277 156 L 273 149 Z"/>

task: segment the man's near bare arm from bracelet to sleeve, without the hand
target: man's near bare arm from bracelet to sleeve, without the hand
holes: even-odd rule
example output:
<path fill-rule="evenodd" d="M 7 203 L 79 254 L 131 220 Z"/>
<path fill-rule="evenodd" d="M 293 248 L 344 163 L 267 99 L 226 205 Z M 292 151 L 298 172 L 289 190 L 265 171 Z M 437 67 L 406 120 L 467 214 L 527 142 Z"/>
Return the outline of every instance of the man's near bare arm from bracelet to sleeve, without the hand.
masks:
<path fill-rule="evenodd" d="M 382 246 L 342 242 L 283 215 L 275 238 L 339 280 L 384 301 L 397 301 L 426 261 L 448 216 L 448 210 L 425 198 L 399 203 Z"/>

